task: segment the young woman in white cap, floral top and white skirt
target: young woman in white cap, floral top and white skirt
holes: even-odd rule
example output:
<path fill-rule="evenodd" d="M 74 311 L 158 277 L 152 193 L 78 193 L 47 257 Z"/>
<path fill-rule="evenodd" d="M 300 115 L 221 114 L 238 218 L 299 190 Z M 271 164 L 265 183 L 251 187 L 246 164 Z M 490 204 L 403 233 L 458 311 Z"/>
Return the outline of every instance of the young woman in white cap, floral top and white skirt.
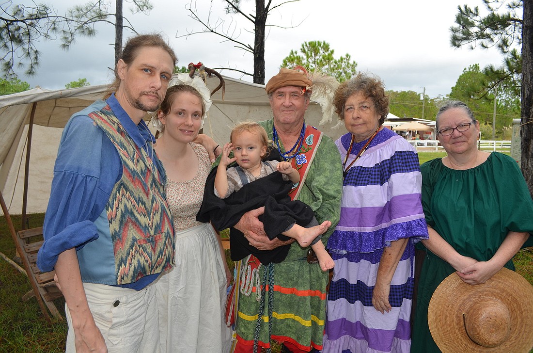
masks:
<path fill-rule="evenodd" d="M 223 312 L 231 275 L 220 237 L 211 224 L 196 221 L 211 170 L 205 148 L 192 142 L 205 102 L 211 102 L 198 80 L 194 82 L 203 94 L 188 84 L 169 87 L 155 116 L 160 131 L 155 149 L 166 170 L 176 232 L 176 265 L 156 283 L 161 352 L 228 352 L 230 347 Z"/>

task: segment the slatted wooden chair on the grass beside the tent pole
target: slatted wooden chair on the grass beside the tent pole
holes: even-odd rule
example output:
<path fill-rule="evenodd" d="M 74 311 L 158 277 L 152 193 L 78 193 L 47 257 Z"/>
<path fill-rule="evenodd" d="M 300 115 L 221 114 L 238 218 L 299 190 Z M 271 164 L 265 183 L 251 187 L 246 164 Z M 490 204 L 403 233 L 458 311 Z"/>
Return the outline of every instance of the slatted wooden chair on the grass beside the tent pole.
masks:
<path fill-rule="evenodd" d="M 58 308 L 53 303 L 53 300 L 63 296 L 54 282 L 55 271 L 41 272 L 37 267 L 37 252 L 44 242 L 43 227 L 20 230 L 14 240 L 33 288 L 33 293 L 46 320 L 51 322 L 48 310 L 50 310 L 53 317 L 63 320 L 63 316 L 61 316 Z M 30 294 L 31 292 L 26 294 L 23 299 L 28 300 L 31 298 L 33 295 Z"/>

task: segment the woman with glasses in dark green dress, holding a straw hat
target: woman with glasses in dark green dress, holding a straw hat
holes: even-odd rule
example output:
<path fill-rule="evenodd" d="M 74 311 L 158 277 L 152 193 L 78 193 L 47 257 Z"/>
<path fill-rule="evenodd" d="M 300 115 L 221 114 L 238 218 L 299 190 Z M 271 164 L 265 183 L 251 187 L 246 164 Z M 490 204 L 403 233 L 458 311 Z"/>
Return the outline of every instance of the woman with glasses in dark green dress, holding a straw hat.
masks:
<path fill-rule="evenodd" d="M 417 245 L 426 251 L 411 342 L 417 353 L 440 352 L 427 325 L 427 307 L 443 279 L 455 272 L 467 284 L 484 283 L 502 267 L 514 270 L 513 256 L 533 240 L 533 201 L 518 164 L 477 149 L 479 122 L 470 108 L 445 102 L 437 133 L 448 155 L 421 167 L 430 238 Z"/>

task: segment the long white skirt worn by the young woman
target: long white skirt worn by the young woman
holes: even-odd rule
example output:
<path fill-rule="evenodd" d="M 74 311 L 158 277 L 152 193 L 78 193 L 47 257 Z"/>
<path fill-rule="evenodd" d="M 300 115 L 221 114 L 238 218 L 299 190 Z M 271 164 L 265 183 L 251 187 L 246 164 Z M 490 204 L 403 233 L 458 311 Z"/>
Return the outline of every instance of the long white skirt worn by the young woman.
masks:
<path fill-rule="evenodd" d="M 161 352 L 229 352 L 225 259 L 211 224 L 176 233 L 176 264 L 155 282 Z"/>

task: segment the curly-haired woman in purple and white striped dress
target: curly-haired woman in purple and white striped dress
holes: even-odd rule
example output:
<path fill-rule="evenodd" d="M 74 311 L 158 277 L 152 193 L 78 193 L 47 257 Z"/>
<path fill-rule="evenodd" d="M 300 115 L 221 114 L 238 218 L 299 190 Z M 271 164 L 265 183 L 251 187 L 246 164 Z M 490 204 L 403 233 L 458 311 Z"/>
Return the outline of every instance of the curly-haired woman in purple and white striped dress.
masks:
<path fill-rule="evenodd" d="M 335 92 L 349 133 L 341 220 L 328 240 L 335 260 L 323 352 L 409 352 L 414 244 L 427 239 L 416 150 L 382 126 L 389 97 L 360 73 Z"/>

